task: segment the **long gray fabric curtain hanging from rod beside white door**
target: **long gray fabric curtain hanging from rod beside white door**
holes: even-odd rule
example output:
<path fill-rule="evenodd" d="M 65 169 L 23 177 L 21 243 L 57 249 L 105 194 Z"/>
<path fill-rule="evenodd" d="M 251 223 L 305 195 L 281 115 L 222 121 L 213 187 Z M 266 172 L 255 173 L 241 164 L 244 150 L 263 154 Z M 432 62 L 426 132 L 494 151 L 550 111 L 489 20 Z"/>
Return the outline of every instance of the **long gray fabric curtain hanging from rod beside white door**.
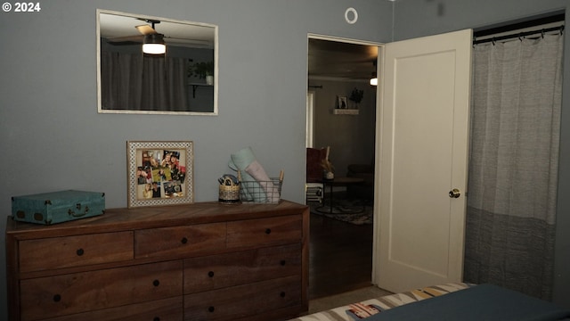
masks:
<path fill-rule="evenodd" d="M 476 45 L 465 281 L 550 300 L 561 35 Z"/>

